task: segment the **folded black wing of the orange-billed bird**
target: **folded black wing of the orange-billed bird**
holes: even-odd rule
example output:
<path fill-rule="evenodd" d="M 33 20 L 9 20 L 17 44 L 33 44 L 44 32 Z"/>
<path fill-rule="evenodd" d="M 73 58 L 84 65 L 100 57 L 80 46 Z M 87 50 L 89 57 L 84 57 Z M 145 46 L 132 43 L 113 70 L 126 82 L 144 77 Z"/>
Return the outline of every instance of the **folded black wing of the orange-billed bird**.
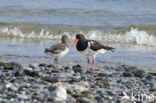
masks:
<path fill-rule="evenodd" d="M 104 46 L 102 44 L 100 44 L 99 42 L 95 41 L 95 40 L 88 40 L 88 43 L 90 45 L 90 48 L 94 51 L 100 50 L 100 49 L 105 49 L 105 50 L 110 50 L 113 51 L 113 47 L 108 47 L 108 46 Z"/>

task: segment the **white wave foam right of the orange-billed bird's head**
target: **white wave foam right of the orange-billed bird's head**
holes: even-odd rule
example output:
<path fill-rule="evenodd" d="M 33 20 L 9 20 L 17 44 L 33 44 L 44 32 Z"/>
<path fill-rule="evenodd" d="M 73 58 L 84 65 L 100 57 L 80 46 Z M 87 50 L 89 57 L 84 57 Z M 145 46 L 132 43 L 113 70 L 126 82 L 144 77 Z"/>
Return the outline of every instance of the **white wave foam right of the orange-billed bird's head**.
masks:
<path fill-rule="evenodd" d="M 87 36 L 89 39 L 102 40 L 104 42 L 156 46 L 155 36 L 149 35 L 146 31 L 138 30 L 137 28 L 132 28 L 125 34 L 111 34 L 102 33 L 100 31 L 90 31 Z"/>

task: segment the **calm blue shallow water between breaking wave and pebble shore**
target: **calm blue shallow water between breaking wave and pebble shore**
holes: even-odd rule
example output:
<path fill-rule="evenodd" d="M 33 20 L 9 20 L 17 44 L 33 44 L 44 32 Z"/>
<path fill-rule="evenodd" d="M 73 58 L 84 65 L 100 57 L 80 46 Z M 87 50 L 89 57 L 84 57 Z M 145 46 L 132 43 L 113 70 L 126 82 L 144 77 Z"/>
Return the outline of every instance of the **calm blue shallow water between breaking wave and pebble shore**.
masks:
<path fill-rule="evenodd" d="M 18 42 L 17 42 L 18 41 Z M 44 49 L 57 43 L 56 40 L 30 40 L 13 41 L 1 40 L 0 61 L 16 61 L 24 64 L 28 63 L 51 63 L 53 58 L 44 54 Z M 105 44 L 107 45 L 107 44 Z M 130 65 L 137 66 L 146 70 L 155 70 L 156 67 L 156 49 L 153 47 L 137 45 L 116 45 L 115 52 L 107 52 L 104 55 L 96 57 L 96 67 L 100 68 L 105 65 Z M 92 58 L 90 58 L 92 59 Z M 62 65 L 80 64 L 83 67 L 87 65 L 86 57 L 80 54 L 76 48 L 70 48 L 67 55 L 60 59 Z"/>

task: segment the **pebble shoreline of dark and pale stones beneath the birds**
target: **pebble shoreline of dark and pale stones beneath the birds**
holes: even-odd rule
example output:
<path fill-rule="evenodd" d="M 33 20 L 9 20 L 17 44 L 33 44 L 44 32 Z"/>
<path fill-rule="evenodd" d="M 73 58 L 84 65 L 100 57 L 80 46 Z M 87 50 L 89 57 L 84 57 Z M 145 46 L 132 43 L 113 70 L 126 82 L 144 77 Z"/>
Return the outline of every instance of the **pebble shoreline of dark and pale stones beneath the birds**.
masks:
<path fill-rule="evenodd" d="M 127 65 L 103 66 L 94 73 L 86 73 L 85 70 L 81 65 L 54 69 L 52 65 L 45 63 L 24 66 L 16 62 L 1 62 L 0 101 L 120 103 L 140 101 L 135 95 L 132 98 L 132 93 L 142 93 L 151 98 L 156 96 L 154 72 L 148 73 Z M 152 102 L 155 101 L 154 98 Z"/>

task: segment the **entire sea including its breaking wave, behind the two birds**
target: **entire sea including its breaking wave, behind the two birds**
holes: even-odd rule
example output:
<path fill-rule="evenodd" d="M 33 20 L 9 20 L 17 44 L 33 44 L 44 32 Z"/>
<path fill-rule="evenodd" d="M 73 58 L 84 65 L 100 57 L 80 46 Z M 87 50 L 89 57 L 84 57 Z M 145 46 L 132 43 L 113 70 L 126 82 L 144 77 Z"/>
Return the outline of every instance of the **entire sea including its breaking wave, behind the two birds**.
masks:
<path fill-rule="evenodd" d="M 0 60 L 50 62 L 44 49 L 76 33 L 116 48 L 97 65 L 128 64 L 156 70 L 155 0 L 1 0 Z M 76 58 L 76 59 L 75 59 Z M 72 48 L 63 64 L 85 64 Z"/>

